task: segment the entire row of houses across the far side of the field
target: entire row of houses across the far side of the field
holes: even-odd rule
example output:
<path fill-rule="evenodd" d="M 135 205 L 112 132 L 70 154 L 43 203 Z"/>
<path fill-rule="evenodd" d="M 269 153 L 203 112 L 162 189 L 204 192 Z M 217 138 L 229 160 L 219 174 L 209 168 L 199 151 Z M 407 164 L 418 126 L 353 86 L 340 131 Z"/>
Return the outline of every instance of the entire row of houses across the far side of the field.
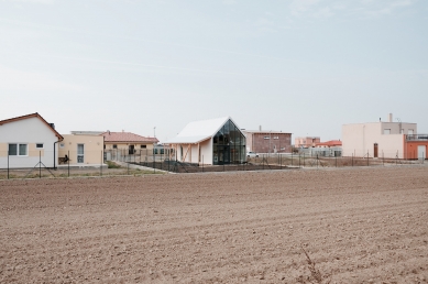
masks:
<path fill-rule="evenodd" d="M 65 157 L 74 164 L 100 164 L 111 153 L 133 155 L 157 151 L 167 159 L 195 164 L 233 164 L 246 161 L 248 152 L 292 153 L 292 133 L 241 129 L 230 117 L 194 121 L 177 136 L 158 146 L 156 138 L 130 132 L 72 131 L 59 134 L 54 123 L 39 113 L 0 121 L 0 168 L 56 167 Z M 296 138 L 295 148 L 329 156 L 426 159 L 428 134 L 418 134 L 416 123 L 353 123 L 342 127 L 342 139 L 321 142 L 319 136 Z M 163 151 L 167 149 L 167 151 Z M 305 153 L 305 152 L 304 152 Z"/>

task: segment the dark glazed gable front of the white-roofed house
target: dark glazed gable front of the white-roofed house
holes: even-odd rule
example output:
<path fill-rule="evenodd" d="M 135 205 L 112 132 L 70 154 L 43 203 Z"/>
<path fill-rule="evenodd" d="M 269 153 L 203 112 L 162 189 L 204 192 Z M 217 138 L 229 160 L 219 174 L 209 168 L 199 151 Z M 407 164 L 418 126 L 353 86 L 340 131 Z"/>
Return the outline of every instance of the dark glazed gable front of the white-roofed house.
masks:
<path fill-rule="evenodd" d="M 212 164 L 239 164 L 245 161 L 245 136 L 228 120 L 212 138 Z"/>

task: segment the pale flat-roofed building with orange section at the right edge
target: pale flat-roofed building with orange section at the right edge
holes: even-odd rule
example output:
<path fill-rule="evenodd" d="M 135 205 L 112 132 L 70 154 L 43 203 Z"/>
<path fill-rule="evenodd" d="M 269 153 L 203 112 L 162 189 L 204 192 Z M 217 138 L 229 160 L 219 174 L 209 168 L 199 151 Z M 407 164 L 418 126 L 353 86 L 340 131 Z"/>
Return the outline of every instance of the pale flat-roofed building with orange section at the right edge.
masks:
<path fill-rule="evenodd" d="M 417 123 L 394 122 L 389 113 L 386 122 L 342 125 L 344 156 L 389 159 L 425 159 L 428 134 L 418 134 Z"/>

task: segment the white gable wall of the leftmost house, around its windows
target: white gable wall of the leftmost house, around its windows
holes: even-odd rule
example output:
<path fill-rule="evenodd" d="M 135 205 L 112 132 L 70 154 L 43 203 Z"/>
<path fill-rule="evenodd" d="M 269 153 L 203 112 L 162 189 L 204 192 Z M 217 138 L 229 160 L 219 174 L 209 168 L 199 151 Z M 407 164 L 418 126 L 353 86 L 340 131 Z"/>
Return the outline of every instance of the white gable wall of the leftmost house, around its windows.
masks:
<path fill-rule="evenodd" d="M 9 167 L 34 167 L 39 163 L 39 154 L 41 161 L 46 167 L 54 166 L 54 149 L 55 160 L 58 156 L 58 145 L 54 142 L 58 141 L 54 131 L 50 129 L 41 119 L 29 118 L 14 122 L 9 122 L 0 125 L 0 144 L 1 149 L 8 151 L 9 143 L 28 144 L 26 156 L 9 156 Z M 35 149 L 35 143 L 43 143 L 43 149 Z M 55 162 L 57 163 L 57 162 Z M 8 166 L 8 153 L 0 153 L 0 168 Z"/>

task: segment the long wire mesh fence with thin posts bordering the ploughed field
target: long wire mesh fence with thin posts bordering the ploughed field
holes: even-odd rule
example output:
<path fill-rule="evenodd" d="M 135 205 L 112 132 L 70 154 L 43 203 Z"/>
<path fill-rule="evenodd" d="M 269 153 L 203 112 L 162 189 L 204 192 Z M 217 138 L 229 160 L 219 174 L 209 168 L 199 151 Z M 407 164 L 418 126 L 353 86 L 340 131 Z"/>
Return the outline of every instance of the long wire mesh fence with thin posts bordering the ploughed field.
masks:
<path fill-rule="evenodd" d="M 387 157 L 385 157 L 387 156 Z M 417 159 L 393 157 L 382 153 L 381 157 L 321 156 L 287 153 L 259 154 L 239 164 L 210 165 L 177 161 L 174 153 L 154 150 L 113 150 L 51 153 L 28 152 L 26 155 L 9 155 L 0 152 L 0 179 L 11 178 L 57 178 L 77 176 L 143 175 L 165 173 L 242 172 L 296 168 L 328 168 L 356 166 L 398 166 L 424 164 L 425 154 Z M 204 161 L 204 156 L 202 160 Z"/>

